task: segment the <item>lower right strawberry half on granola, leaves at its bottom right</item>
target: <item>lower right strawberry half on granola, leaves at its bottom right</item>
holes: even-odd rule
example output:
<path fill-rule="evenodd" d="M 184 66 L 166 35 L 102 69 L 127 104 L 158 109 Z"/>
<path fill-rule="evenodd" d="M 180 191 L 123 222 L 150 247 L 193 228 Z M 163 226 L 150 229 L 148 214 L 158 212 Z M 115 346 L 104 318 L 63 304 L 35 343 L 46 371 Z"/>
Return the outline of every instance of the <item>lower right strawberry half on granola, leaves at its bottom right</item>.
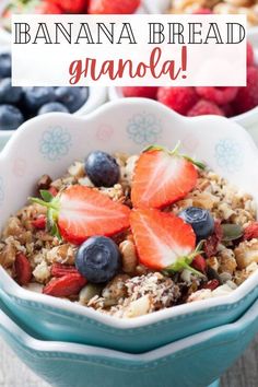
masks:
<path fill-rule="evenodd" d="M 154 270 L 185 266 L 195 250 L 192 227 L 180 218 L 159 210 L 133 210 L 130 224 L 142 265 Z M 181 265 L 181 267 L 180 267 Z"/>

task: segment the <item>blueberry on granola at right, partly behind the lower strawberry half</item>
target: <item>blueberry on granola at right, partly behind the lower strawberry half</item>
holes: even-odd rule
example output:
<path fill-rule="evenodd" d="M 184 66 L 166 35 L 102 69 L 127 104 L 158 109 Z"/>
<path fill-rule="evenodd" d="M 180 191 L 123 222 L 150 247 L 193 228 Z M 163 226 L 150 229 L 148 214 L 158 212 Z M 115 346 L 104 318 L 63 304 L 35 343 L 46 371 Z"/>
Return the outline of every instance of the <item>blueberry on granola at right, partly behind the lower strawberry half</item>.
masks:
<path fill-rule="evenodd" d="M 179 216 L 192 226 L 198 242 L 207 239 L 214 231 L 214 220 L 208 210 L 188 207 L 179 213 Z"/>

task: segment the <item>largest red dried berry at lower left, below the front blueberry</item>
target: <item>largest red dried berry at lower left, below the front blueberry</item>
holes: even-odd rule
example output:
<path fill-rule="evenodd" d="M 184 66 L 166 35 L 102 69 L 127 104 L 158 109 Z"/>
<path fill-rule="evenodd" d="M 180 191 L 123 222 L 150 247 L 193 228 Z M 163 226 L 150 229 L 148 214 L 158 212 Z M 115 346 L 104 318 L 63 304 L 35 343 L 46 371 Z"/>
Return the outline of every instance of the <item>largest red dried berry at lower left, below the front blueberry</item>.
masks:
<path fill-rule="evenodd" d="M 43 293 L 54 297 L 69 297 L 77 295 L 85 284 L 86 280 L 80 273 L 70 273 L 52 279 L 43 289 Z"/>

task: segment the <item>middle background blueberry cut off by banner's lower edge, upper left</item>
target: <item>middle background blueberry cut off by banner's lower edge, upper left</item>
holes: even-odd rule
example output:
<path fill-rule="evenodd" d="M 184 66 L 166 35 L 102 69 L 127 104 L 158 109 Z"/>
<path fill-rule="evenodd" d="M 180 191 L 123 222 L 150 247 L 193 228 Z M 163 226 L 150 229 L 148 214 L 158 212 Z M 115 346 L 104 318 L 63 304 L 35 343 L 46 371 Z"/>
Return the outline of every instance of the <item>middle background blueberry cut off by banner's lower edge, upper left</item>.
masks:
<path fill-rule="evenodd" d="M 55 101 L 54 87 L 24 87 L 24 103 L 28 110 L 37 113 L 48 102 Z"/>

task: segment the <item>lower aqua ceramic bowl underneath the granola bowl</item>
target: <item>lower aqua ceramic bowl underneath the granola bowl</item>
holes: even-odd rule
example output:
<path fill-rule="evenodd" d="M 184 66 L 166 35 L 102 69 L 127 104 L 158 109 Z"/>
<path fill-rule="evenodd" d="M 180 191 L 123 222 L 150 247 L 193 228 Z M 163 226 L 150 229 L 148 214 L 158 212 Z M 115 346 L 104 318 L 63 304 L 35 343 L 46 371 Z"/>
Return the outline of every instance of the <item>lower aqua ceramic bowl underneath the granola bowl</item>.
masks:
<path fill-rule="evenodd" d="M 3 312 L 0 330 L 17 356 L 58 387 L 204 387 L 242 355 L 258 331 L 258 302 L 236 322 L 132 355 L 66 342 L 40 341 Z M 212 387 L 218 387 L 213 384 Z"/>

